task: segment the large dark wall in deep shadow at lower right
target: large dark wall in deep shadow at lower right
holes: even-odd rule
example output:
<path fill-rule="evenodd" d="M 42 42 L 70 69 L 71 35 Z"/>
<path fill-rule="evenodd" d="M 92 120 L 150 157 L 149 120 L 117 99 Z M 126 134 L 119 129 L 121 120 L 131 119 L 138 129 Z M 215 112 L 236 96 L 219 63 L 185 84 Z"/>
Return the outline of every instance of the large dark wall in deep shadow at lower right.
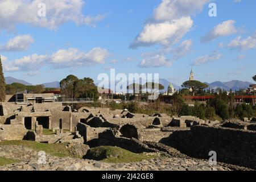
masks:
<path fill-rule="evenodd" d="M 217 161 L 256 169 L 256 132 L 221 127 L 195 126 L 176 131 L 162 142 L 195 158 L 209 159 L 217 152 Z"/>

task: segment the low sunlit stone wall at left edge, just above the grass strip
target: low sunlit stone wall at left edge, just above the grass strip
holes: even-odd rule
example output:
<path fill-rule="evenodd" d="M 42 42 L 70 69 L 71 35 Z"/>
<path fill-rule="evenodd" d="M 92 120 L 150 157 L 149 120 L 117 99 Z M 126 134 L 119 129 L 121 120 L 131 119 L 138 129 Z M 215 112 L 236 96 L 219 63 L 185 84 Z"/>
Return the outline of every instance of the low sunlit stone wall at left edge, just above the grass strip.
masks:
<path fill-rule="evenodd" d="M 1 140 L 22 140 L 27 130 L 23 125 L 0 125 Z"/>

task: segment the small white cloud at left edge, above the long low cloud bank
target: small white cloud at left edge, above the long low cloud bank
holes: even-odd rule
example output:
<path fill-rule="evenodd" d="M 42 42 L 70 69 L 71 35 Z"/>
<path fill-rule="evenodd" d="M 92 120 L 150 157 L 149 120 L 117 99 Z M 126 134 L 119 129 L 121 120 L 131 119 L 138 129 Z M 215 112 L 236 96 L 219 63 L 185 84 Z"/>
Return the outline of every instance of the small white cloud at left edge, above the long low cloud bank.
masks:
<path fill-rule="evenodd" d="M 19 35 L 10 39 L 5 46 L 0 46 L 2 52 L 27 51 L 34 39 L 30 35 Z"/>

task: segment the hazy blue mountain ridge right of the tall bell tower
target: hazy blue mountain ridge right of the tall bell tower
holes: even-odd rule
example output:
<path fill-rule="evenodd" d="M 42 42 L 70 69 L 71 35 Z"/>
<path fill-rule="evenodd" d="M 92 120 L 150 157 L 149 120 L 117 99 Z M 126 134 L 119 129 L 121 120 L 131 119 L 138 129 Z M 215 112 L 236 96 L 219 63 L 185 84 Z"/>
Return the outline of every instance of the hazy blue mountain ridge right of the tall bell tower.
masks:
<path fill-rule="evenodd" d="M 210 89 L 220 88 L 226 91 L 229 91 L 230 89 L 235 91 L 235 90 L 249 88 L 249 86 L 253 83 L 247 82 L 247 81 L 232 80 L 228 82 L 215 81 L 210 84 L 205 82 L 205 84 L 209 85 Z"/>

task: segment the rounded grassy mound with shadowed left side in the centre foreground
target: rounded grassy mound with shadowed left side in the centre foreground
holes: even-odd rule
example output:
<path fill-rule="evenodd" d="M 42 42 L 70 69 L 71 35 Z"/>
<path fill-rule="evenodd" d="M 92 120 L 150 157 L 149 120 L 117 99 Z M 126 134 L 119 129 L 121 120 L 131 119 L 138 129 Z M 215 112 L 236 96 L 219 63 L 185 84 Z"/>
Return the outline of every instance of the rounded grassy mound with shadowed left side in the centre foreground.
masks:
<path fill-rule="evenodd" d="M 85 155 L 85 158 L 107 163 L 131 163 L 158 158 L 158 156 L 135 154 L 120 147 L 101 146 L 91 148 Z"/>

